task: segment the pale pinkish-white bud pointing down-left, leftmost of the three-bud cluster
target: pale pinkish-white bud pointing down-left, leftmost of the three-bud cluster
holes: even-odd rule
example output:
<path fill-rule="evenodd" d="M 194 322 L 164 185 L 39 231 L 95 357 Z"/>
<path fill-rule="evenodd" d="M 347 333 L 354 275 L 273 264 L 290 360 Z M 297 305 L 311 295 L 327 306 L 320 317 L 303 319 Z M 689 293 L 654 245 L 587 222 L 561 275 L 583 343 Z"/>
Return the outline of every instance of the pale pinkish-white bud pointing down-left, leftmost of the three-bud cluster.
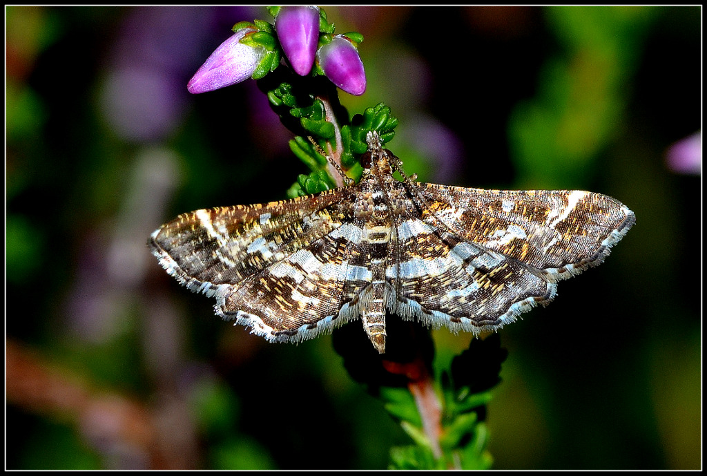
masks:
<path fill-rule="evenodd" d="M 243 45 L 240 40 L 255 31 L 253 28 L 243 28 L 221 43 L 189 80 L 189 93 L 206 93 L 250 78 L 266 51 L 262 47 Z"/>

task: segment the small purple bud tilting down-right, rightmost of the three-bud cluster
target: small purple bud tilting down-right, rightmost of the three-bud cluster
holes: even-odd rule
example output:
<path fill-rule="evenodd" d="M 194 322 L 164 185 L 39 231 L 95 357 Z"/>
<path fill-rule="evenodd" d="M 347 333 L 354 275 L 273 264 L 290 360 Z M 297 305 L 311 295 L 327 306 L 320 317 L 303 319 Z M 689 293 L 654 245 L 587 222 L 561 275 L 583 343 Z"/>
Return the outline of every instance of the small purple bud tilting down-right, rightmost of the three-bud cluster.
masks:
<path fill-rule="evenodd" d="M 366 71 L 358 51 L 344 35 L 336 35 L 332 42 L 317 52 L 317 60 L 324 74 L 346 93 L 360 96 L 366 91 Z"/>

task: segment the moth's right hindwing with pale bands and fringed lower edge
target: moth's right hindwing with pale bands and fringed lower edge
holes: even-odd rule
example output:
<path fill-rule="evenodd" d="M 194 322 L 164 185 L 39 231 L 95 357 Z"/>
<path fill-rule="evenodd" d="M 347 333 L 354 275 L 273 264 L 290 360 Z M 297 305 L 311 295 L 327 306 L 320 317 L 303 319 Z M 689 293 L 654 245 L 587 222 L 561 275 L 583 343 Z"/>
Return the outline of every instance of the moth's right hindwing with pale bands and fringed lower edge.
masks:
<path fill-rule="evenodd" d="M 412 200 L 402 208 L 386 269 L 392 312 L 478 335 L 554 297 L 541 271 L 450 231 Z"/>

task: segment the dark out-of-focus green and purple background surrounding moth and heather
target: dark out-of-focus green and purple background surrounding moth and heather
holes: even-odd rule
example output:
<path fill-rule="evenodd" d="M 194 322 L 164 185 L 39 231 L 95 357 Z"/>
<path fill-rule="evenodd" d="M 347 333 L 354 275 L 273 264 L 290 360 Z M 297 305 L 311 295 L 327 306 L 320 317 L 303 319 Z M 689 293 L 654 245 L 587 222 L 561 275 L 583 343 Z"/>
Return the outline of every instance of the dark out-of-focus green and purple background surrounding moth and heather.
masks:
<path fill-rule="evenodd" d="M 327 8 L 365 41 L 423 182 L 601 192 L 637 223 L 501 331 L 494 468 L 701 468 L 701 7 Z M 269 344 L 168 277 L 149 234 L 285 197 L 253 81 L 186 84 L 248 7 L 6 7 L 6 467 L 386 468 L 394 422 L 331 337 Z M 689 157 L 688 157 L 689 159 Z M 682 161 L 682 162 L 681 162 Z M 354 323 L 352 325 L 358 325 Z M 470 335 L 433 333 L 439 356 Z"/>

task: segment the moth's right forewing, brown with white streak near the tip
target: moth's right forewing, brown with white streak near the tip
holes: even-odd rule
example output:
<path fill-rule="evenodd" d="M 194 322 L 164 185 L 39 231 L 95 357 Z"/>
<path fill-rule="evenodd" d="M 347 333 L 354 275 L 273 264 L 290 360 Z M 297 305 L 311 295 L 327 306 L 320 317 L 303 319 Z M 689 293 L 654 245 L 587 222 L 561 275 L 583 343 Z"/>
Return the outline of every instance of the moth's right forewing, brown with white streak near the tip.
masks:
<path fill-rule="evenodd" d="M 420 184 L 431 214 L 462 238 L 559 281 L 599 265 L 636 223 L 617 199 L 580 190 L 480 190 Z M 441 223 L 440 223 L 441 222 Z"/>

